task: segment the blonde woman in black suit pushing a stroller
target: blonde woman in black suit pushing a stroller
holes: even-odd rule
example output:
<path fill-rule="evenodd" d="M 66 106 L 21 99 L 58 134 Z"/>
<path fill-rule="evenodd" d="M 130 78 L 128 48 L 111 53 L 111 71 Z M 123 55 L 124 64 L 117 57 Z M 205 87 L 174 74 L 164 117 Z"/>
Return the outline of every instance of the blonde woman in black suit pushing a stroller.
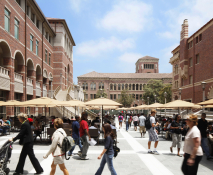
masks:
<path fill-rule="evenodd" d="M 19 140 L 19 144 L 23 145 L 21 154 L 19 157 L 18 165 L 13 175 L 23 174 L 24 164 L 25 164 L 27 155 L 29 156 L 30 161 L 33 164 L 33 167 L 36 173 L 41 174 L 43 172 L 43 168 L 41 167 L 40 163 L 38 162 L 38 159 L 35 157 L 35 154 L 34 154 L 33 136 L 32 136 L 31 127 L 27 118 L 28 118 L 27 114 L 20 113 L 18 115 L 18 120 L 20 123 L 22 123 L 21 130 L 16 137 L 9 140 L 13 142 L 15 142 L 16 140 Z"/>

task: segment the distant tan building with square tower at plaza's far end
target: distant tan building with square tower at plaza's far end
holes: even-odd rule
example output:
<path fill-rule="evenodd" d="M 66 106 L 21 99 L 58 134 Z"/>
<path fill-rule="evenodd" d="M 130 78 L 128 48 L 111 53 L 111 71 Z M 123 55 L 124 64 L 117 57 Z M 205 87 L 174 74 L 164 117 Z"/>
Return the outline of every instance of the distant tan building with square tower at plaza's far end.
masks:
<path fill-rule="evenodd" d="M 144 87 L 151 79 L 172 82 L 171 73 L 158 73 L 158 58 L 145 56 L 136 62 L 136 73 L 98 73 L 90 72 L 78 77 L 78 84 L 85 90 L 85 100 L 96 98 L 99 89 L 104 89 L 112 100 L 120 98 L 121 91 L 128 89 L 135 102 L 132 106 L 142 104 Z"/>

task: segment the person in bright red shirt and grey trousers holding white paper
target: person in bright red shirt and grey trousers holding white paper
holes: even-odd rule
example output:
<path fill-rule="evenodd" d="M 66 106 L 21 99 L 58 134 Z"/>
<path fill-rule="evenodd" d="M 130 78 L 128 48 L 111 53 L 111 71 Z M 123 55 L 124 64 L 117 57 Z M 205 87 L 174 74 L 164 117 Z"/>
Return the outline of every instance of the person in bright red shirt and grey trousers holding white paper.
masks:
<path fill-rule="evenodd" d="M 88 114 L 86 112 L 82 112 L 81 114 L 81 122 L 80 122 L 80 137 L 83 142 L 82 151 L 79 152 L 79 156 L 82 160 L 88 160 L 89 157 L 87 157 L 87 152 L 89 149 L 89 143 L 88 140 L 91 140 L 91 137 L 89 135 L 89 127 L 87 123 L 87 117 Z"/>

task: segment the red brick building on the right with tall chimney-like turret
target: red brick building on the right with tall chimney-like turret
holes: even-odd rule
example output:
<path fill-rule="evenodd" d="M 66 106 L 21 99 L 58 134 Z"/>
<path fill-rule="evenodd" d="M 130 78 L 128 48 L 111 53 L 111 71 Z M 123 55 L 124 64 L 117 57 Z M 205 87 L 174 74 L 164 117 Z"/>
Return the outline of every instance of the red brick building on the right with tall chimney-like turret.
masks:
<path fill-rule="evenodd" d="M 213 98 L 213 19 L 188 37 L 188 20 L 182 24 L 180 45 L 173 51 L 170 63 L 173 66 L 173 99 L 198 103 Z"/>

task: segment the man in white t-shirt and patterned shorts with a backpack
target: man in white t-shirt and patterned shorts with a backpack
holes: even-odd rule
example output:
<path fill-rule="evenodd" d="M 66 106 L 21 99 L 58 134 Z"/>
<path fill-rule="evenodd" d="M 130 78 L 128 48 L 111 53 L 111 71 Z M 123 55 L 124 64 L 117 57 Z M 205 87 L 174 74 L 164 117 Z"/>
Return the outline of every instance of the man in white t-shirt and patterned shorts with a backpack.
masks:
<path fill-rule="evenodd" d="M 157 152 L 156 148 L 158 146 L 158 134 L 155 130 L 155 127 L 159 125 L 159 123 L 155 122 L 155 114 L 156 111 L 154 109 L 151 110 L 151 115 L 150 115 L 150 124 L 151 124 L 151 128 L 148 130 L 148 134 L 149 134 L 149 141 L 148 141 L 148 153 L 151 154 L 157 154 L 159 155 L 159 153 Z M 156 124 L 155 124 L 156 123 Z M 154 151 L 151 151 L 150 147 L 151 147 L 151 142 L 155 142 L 154 145 Z"/>

